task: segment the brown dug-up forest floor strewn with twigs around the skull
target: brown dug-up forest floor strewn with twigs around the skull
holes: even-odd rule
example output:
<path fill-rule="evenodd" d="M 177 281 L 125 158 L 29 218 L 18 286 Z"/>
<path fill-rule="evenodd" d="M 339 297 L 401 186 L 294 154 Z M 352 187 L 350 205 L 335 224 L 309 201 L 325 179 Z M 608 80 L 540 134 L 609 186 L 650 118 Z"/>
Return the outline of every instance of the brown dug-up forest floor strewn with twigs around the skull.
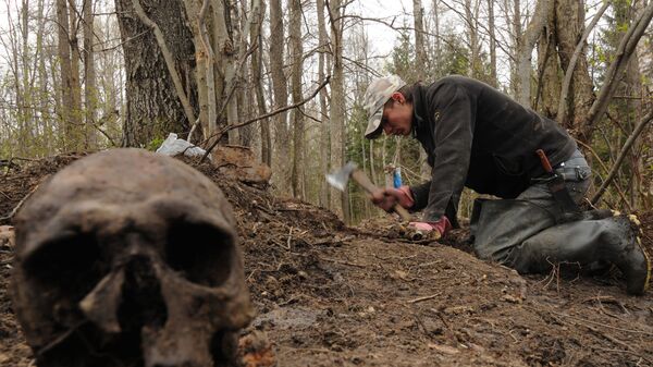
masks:
<path fill-rule="evenodd" d="M 75 158 L 0 176 L 0 217 Z M 264 332 L 279 366 L 653 366 L 653 292 L 627 295 L 618 271 L 521 277 L 477 259 L 465 229 L 411 243 L 390 216 L 347 228 L 325 209 L 197 168 L 234 207 L 258 313 L 245 333 Z M 653 249 L 653 213 L 639 218 Z M 12 247 L 0 244 L 0 365 L 26 367 L 32 352 L 7 293 Z"/>

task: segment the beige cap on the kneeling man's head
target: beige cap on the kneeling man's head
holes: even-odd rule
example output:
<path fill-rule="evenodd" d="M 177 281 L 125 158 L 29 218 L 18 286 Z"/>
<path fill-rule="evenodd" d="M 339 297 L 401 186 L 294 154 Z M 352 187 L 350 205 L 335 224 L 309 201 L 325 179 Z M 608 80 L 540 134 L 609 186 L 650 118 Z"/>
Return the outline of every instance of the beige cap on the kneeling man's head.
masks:
<path fill-rule="evenodd" d="M 406 82 L 397 75 L 389 75 L 377 78 L 370 83 L 365 91 L 364 108 L 368 112 L 368 127 L 365 137 L 374 139 L 381 134 L 381 119 L 383 118 L 383 106 L 392 94 L 399 90 Z"/>

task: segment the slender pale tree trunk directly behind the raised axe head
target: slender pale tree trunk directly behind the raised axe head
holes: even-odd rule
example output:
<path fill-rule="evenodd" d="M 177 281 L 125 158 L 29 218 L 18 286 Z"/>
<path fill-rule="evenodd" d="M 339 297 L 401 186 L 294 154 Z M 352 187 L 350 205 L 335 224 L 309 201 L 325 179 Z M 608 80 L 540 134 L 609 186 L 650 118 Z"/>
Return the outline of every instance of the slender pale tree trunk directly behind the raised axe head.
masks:
<path fill-rule="evenodd" d="M 331 52 L 333 78 L 331 81 L 331 164 L 341 168 L 345 161 L 345 87 L 343 66 L 343 20 L 344 4 L 341 0 L 330 1 Z M 349 221 L 347 191 L 331 192 L 331 209 Z"/>

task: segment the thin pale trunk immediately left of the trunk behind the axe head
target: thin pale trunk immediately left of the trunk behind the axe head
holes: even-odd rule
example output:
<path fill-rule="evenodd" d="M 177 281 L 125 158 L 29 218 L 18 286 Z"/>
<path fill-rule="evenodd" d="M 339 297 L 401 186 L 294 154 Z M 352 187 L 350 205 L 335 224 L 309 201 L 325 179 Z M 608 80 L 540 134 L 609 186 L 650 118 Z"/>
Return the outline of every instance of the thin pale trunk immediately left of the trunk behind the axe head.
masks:
<path fill-rule="evenodd" d="M 317 0 L 318 12 L 318 82 L 322 84 L 326 77 L 324 70 L 326 69 L 325 59 L 328 50 L 328 35 L 324 17 L 324 0 Z M 322 176 L 329 173 L 331 167 L 331 140 L 329 134 L 329 119 L 326 105 L 326 88 L 320 90 L 320 172 Z M 325 180 L 320 180 L 320 205 L 330 208 L 329 185 Z"/>

